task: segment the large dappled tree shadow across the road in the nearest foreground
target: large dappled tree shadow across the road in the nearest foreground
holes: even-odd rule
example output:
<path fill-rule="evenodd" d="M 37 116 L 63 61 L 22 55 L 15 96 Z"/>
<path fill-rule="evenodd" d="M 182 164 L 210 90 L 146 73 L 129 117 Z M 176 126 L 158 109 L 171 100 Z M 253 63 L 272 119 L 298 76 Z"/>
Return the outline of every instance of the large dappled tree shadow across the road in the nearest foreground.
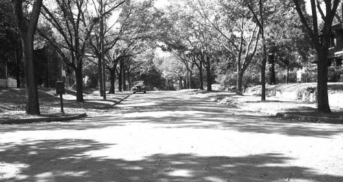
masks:
<path fill-rule="evenodd" d="M 289 166 L 287 162 L 293 159 L 278 153 L 241 157 L 151 154 L 139 160 L 90 155 L 116 147 L 89 139 L 1 144 L 0 181 L 343 181 L 340 176 Z"/>

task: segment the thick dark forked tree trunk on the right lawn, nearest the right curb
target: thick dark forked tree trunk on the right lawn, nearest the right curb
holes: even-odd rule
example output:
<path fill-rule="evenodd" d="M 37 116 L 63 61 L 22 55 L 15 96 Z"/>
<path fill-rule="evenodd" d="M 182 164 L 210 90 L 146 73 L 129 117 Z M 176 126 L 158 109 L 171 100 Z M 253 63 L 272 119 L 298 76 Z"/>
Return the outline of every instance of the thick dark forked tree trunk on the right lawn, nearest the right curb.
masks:
<path fill-rule="evenodd" d="M 296 11 L 298 12 L 301 22 L 305 26 L 309 37 L 311 38 L 311 43 L 316 49 L 318 56 L 317 66 L 318 66 L 318 111 L 320 113 L 331 113 L 329 106 L 329 96 L 327 91 L 327 80 L 328 80 L 328 54 L 331 39 L 331 25 L 338 9 L 340 0 L 311 0 L 311 13 L 312 19 L 307 19 L 305 10 L 305 1 L 303 0 L 293 0 L 296 6 Z M 325 5 L 325 10 L 322 10 L 322 3 Z M 320 13 L 322 18 L 322 29 L 320 30 L 320 25 L 318 24 L 317 13 Z M 320 34 L 321 32 L 321 34 Z"/>

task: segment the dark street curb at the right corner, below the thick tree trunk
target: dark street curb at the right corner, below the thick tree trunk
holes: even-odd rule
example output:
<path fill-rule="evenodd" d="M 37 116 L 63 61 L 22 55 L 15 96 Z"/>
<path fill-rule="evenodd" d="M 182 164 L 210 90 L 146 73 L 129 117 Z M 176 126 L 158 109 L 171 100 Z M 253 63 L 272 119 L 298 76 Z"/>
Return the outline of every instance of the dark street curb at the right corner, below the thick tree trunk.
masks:
<path fill-rule="evenodd" d="M 342 118 L 332 118 L 332 117 L 315 117 L 309 115 L 292 115 L 287 113 L 276 113 L 276 117 L 285 117 L 287 119 L 303 120 L 307 122 L 317 122 L 317 123 L 331 123 L 331 124 L 342 124 Z"/>

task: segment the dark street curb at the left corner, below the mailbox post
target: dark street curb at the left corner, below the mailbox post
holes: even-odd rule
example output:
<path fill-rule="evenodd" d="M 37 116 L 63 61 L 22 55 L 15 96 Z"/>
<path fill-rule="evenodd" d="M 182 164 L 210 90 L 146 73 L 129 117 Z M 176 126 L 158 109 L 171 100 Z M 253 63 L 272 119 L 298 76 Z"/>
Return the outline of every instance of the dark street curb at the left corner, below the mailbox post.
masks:
<path fill-rule="evenodd" d="M 77 120 L 82 117 L 86 117 L 86 113 L 71 115 L 67 117 L 40 117 L 40 118 L 27 118 L 18 120 L 0 120 L 0 124 L 28 124 L 36 122 L 65 122 L 69 120 Z"/>

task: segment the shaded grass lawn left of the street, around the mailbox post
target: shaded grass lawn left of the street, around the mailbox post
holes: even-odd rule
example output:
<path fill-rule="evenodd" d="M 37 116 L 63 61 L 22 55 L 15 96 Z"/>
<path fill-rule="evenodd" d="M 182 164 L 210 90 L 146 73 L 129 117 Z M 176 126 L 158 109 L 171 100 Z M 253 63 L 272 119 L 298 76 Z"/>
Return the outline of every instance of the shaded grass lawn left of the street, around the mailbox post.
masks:
<path fill-rule="evenodd" d="M 88 92 L 85 92 L 88 93 Z M 67 90 L 62 96 L 64 114 L 61 113 L 60 98 L 55 89 L 38 89 L 40 115 L 26 115 L 25 89 L 1 89 L 0 90 L 0 120 L 24 119 L 47 116 L 68 116 L 80 113 L 87 115 L 99 115 L 99 111 L 108 109 L 113 104 L 124 98 L 126 93 L 107 95 L 107 100 L 102 100 L 96 92 L 84 94 L 84 102 L 76 102 L 76 93 Z"/>

